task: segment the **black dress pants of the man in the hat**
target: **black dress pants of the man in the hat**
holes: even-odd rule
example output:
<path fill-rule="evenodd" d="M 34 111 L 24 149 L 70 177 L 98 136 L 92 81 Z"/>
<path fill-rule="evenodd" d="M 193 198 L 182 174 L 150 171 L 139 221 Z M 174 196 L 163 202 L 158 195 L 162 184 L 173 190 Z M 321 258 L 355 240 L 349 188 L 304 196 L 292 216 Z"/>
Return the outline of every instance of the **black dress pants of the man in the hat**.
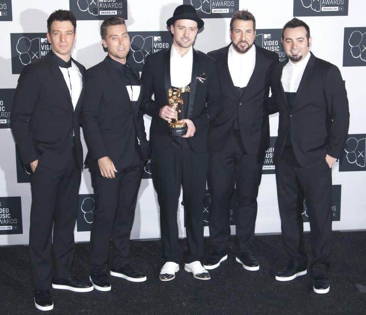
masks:
<path fill-rule="evenodd" d="M 178 200 L 183 187 L 188 250 L 185 263 L 200 260 L 204 253 L 203 204 L 206 191 L 208 153 L 171 148 L 152 151 L 152 180 L 160 206 L 162 253 L 165 261 L 179 263 Z"/>

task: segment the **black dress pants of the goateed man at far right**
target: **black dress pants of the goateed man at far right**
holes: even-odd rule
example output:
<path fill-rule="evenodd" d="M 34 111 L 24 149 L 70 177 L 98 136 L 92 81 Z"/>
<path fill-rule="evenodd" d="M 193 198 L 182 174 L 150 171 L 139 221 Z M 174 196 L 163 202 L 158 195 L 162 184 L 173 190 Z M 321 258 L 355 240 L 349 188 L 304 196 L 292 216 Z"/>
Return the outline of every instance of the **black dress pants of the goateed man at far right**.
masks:
<path fill-rule="evenodd" d="M 313 273 L 315 276 L 326 275 L 331 256 L 332 170 L 325 158 L 316 167 L 302 168 L 288 158 L 292 150 L 290 153 L 287 151 L 285 148 L 285 154 L 282 154 L 275 166 L 283 243 L 290 259 L 298 263 L 306 262 L 301 216 L 305 195 L 309 208 Z"/>

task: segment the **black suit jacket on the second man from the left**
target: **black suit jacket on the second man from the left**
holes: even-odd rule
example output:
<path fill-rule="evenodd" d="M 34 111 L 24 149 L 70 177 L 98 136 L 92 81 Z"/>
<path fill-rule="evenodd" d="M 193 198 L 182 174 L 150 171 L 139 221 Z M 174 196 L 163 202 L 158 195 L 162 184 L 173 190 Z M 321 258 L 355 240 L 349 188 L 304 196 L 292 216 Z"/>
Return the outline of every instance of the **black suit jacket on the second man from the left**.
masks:
<path fill-rule="evenodd" d="M 134 72 L 139 78 L 138 72 Z M 149 157 L 139 101 L 135 106 L 131 105 L 127 88 L 108 57 L 87 70 L 82 110 L 83 131 L 89 149 L 86 164 L 108 156 L 118 171 L 129 167 L 135 147 L 138 147 L 135 146 L 136 136 L 140 140 L 141 160 Z"/>

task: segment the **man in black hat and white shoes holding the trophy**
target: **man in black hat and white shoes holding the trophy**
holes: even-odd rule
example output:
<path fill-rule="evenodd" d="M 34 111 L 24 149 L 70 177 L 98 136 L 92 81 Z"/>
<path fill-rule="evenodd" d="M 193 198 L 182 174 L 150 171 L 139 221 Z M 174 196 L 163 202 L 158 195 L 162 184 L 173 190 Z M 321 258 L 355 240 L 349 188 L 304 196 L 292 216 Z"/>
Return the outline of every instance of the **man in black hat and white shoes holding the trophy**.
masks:
<path fill-rule="evenodd" d="M 220 86 L 214 60 L 193 49 L 198 29 L 204 22 L 191 5 L 178 6 L 167 21 L 173 45 L 146 61 L 142 72 L 140 108 L 152 116 L 152 180 L 160 206 L 160 229 L 165 264 L 160 280 L 175 278 L 181 261 L 178 245 L 177 207 L 183 186 L 183 202 L 188 250 L 184 252 L 184 269 L 197 279 L 208 280 L 202 267 L 204 252 L 203 202 L 208 168 L 209 124 L 220 110 Z M 169 135 L 168 122 L 177 118 L 169 107 L 168 89 L 182 88 L 183 108 L 179 116 L 187 124 L 181 138 Z M 190 92 L 187 89 L 190 88 Z M 154 94 L 154 101 L 151 97 Z"/>

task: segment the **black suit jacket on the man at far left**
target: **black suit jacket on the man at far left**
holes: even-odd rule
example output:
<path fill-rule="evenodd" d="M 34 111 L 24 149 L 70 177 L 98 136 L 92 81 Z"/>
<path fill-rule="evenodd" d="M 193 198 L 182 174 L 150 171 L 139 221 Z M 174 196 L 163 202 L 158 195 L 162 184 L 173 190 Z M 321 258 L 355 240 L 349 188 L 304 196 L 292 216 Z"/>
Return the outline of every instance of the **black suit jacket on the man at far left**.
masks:
<path fill-rule="evenodd" d="M 72 61 L 83 76 L 83 89 L 75 110 L 62 72 L 51 55 L 32 62 L 19 76 L 11 109 L 11 129 L 24 164 L 38 159 L 45 167 L 62 170 L 74 145 L 78 165 L 83 166 L 79 115 L 85 67 Z"/>

